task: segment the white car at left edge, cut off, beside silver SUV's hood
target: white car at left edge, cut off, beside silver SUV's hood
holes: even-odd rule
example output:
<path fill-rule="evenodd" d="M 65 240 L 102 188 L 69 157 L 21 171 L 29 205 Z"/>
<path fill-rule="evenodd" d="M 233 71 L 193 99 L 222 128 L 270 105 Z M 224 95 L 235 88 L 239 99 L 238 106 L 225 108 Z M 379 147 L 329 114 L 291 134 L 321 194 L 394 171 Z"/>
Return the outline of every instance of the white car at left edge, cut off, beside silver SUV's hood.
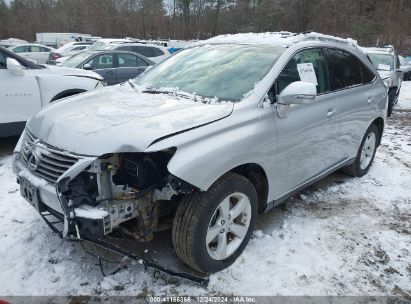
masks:
<path fill-rule="evenodd" d="M 101 86 L 92 71 L 45 67 L 0 47 L 0 137 L 19 135 L 49 103 Z"/>

